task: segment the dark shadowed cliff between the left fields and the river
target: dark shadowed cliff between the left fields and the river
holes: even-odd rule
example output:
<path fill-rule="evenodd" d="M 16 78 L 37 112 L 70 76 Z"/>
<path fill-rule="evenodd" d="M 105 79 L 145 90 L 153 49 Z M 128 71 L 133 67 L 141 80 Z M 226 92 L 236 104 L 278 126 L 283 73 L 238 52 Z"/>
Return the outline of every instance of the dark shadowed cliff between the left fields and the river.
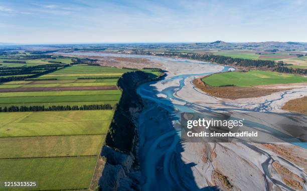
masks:
<path fill-rule="evenodd" d="M 115 109 L 101 155 L 106 164 L 99 180 L 101 190 L 138 190 L 139 176 L 136 156 L 137 116 L 143 109 L 142 98 L 136 88 L 161 76 L 143 71 L 124 73 L 117 82 L 122 95 Z"/>

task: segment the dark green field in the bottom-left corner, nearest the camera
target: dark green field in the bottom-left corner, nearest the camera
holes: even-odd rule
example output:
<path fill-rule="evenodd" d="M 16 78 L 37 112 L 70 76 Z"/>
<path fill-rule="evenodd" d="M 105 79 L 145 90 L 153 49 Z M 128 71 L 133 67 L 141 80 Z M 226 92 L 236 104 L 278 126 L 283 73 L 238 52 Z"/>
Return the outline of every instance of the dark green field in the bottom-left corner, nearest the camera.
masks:
<path fill-rule="evenodd" d="M 0 159 L 0 179 L 36 181 L 32 188 L 0 190 L 86 189 L 89 187 L 97 156 Z"/>

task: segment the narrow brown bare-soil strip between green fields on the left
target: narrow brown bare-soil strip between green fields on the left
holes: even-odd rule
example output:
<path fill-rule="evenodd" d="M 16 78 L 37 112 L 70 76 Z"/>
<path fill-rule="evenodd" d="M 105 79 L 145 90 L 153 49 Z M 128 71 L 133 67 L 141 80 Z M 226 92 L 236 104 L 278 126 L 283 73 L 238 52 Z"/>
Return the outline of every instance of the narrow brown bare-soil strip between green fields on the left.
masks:
<path fill-rule="evenodd" d="M 17 88 L 0 88 L 0 92 L 112 90 L 112 89 L 117 89 L 117 87 L 115 85 L 105 85 L 105 86 L 73 86 L 73 87 L 17 87 Z"/>

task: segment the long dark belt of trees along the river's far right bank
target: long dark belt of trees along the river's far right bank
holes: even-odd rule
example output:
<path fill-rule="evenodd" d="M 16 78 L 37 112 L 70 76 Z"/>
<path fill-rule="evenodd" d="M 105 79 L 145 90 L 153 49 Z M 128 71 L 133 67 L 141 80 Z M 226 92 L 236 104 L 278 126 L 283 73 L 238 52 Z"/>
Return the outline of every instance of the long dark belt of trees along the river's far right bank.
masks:
<path fill-rule="evenodd" d="M 307 69 L 303 68 L 289 68 L 284 66 L 282 61 L 275 62 L 272 60 L 254 60 L 254 59 L 243 59 L 233 58 L 223 55 L 213 54 L 200 54 L 200 53 L 182 53 L 182 52 L 151 52 L 151 51 L 132 51 L 131 54 L 142 54 L 142 55 L 157 55 L 157 56 L 170 56 L 170 57 L 181 57 L 188 59 L 195 59 L 201 61 L 211 61 L 223 65 L 240 66 L 240 67 L 256 67 L 259 69 L 269 68 L 270 70 L 282 72 L 282 73 L 293 73 L 300 75 L 307 75 Z"/>

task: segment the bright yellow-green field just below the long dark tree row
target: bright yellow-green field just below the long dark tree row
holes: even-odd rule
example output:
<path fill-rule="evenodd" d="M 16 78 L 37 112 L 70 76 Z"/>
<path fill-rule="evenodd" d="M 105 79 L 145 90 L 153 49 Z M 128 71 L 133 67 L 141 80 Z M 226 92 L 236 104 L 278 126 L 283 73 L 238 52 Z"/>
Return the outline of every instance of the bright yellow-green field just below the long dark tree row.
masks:
<path fill-rule="evenodd" d="M 105 134 L 113 110 L 0 112 L 0 137 Z"/>

